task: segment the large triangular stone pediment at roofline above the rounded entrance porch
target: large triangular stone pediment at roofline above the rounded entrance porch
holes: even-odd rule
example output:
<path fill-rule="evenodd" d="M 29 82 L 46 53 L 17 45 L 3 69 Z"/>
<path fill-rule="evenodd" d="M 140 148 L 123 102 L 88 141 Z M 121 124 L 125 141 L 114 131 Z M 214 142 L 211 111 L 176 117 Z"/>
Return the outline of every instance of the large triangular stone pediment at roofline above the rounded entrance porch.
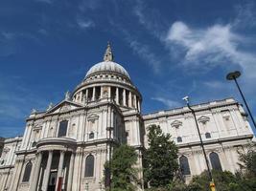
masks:
<path fill-rule="evenodd" d="M 81 107 L 82 107 L 81 104 L 78 104 L 78 103 L 75 103 L 75 102 L 69 101 L 69 100 L 63 100 L 60 103 L 58 103 L 56 106 L 54 106 L 53 108 L 48 110 L 46 112 L 46 114 L 62 113 L 62 112 L 75 110 L 75 109 L 78 109 Z"/>

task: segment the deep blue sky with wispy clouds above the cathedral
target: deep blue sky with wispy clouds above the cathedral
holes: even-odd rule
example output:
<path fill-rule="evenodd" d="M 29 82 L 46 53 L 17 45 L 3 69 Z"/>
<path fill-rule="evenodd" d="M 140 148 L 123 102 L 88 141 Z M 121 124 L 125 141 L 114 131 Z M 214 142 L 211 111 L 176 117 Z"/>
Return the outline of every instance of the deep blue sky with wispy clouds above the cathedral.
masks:
<path fill-rule="evenodd" d="M 256 5 L 249 0 L 0 2 L 0 137 L 22 135 L 103 60 L 106 42 L 143 95 L 143 113 L 241 97 L 256 115 Z"/>

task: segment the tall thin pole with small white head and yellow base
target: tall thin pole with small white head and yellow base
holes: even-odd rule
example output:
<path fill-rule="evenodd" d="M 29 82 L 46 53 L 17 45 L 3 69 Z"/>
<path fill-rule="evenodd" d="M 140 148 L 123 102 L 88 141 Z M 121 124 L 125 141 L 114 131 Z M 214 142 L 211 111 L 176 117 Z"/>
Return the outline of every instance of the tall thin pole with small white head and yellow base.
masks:
<path fill-rule="evenodd" d="M 189 96 L 185 96 L 183 98 L 183 100 L 186 101 L 187 106 L 188 106 L 189 110 L 192 112 L 193 117 L 195 119 L 196 126 L 197 126 L 197 129 L 198 129 L 198 136 L 199 136 L 199 139 L 200 139 L 200 146 L 201 146 L 202 153 L 203 153 L 203 156 L 204 156 L 204 159 L 205 159 L 205 163 L 206 163 L 206 166 L 207 166 L 208 176 L 209 176 L 209 180 L 210 180 L 210 188 L 211 188 L 212 191 L 215 191 L 215 184 L 214 184 L 213 176 L 212 176 L 212 173 L 211 173 L 211 170 L 210 170 L 209 161 L 208 161 L 208 159 L 206 157 L 206 153 L 205 153 L 205 150 L 204 150 L 203 142 L 202 142 L 202 139 L 201 139 L 201 134 L 200 134 L 200 130 L 199 130 L 199 127 L 198 127 L 198 119 L 196 117 L 195 110 L 192 109 L 192 107 L 189 104 Z"/>

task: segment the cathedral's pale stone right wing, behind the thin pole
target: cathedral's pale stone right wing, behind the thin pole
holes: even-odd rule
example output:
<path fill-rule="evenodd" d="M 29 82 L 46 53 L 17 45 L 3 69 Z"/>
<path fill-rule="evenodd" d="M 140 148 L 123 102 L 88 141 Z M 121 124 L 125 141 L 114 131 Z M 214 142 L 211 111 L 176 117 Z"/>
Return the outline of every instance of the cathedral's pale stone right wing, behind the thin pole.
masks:
<path fill-rule="evenodd" d="M 210 167 L 213 168 L 210 154 L 215 153 L 221 169 L 235 173 L 239 169 L 238 151 L 246 152 L 253 138 L 242 105 L 233 98 L 226 98 L 192 108 L 196 112 Z M 190 174 L 185 175 L 187 181 L 206 169 L 196 122 L 188 107 L 144 115 L 143 119 L 146 130 L 147 126 L 157 124 L 164 133 L 172 135 L 179 148 L 179 158 L 188 159 Z M 147 148 L 147 138 L 145 143 Z"/>

